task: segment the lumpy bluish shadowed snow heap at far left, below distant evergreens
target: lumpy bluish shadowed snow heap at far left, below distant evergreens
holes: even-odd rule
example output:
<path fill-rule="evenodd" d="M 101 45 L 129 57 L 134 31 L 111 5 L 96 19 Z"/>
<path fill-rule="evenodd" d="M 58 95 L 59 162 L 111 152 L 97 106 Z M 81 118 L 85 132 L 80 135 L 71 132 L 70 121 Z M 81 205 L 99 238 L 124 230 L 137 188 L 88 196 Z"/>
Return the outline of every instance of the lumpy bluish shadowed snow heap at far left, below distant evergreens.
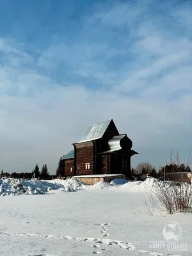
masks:
<path fill-rule="evenodd" d="M 47 191 L 61 189 L 60 184 L 50 184 L 44 180 L 16 180 L 16 179 L 0 179 L 0 195 L 40 195 Z"/>

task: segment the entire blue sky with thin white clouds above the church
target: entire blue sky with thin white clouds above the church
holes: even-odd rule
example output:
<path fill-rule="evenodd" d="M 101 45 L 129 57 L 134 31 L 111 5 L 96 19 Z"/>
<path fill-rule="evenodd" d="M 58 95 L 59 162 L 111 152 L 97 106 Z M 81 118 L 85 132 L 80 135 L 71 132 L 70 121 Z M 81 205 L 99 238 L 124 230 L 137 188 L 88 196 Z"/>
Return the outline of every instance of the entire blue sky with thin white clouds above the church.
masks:
<path fill-rule="evenodd" d="M 31 171 L 113 118 L 159 166 L 192 150 L 191 1 L 0 0 L 0 168 Z M 191 159 L 192 161 L 192 159 Z"/>

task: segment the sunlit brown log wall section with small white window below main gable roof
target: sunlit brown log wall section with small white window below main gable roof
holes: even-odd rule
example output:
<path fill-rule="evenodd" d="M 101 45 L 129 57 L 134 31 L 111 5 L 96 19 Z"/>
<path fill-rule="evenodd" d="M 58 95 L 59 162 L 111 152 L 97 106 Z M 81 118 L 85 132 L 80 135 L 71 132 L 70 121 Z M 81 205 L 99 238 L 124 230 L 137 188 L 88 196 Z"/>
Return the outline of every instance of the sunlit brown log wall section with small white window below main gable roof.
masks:
<path fill-rule="evenodd" d="M 77 143 L 74 144 L 74 147 L 76 152 L 76 175 L 94 174 L 95 147 L 93 141 Z"/>

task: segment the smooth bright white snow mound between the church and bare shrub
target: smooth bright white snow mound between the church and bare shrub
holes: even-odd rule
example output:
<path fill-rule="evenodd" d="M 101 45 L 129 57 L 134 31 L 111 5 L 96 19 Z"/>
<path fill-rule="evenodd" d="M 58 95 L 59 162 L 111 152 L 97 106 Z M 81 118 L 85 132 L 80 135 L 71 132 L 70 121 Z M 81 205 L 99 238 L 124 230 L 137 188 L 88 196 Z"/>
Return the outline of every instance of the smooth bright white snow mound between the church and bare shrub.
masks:
<path fill-rule="evenodd" d="M 122 189 L 129 189 L 131 191 L 150 191 L 157 186 L 158 180 L 152 177 L 147 178 L 145 181 L 130 181 L 121 186 Z"/>

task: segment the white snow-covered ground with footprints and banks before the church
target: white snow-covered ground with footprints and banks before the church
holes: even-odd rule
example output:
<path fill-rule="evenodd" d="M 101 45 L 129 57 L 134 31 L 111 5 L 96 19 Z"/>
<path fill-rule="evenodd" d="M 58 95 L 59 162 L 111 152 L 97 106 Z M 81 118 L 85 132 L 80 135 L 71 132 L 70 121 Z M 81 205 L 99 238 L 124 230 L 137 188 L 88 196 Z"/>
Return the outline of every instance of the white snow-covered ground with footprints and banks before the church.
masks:
<path fill-rule="evenodd" d="M 146 206 L 154 179 L 94 186 L 77 180 L 17 184 L 0 180 L 1 256 L 192 255 L 192 215 Z M 168 251 L 163 237 L 172 221 L 182 228 L 175 252 Z M 182 244 L 187 251 L 180 251 Z"/>

